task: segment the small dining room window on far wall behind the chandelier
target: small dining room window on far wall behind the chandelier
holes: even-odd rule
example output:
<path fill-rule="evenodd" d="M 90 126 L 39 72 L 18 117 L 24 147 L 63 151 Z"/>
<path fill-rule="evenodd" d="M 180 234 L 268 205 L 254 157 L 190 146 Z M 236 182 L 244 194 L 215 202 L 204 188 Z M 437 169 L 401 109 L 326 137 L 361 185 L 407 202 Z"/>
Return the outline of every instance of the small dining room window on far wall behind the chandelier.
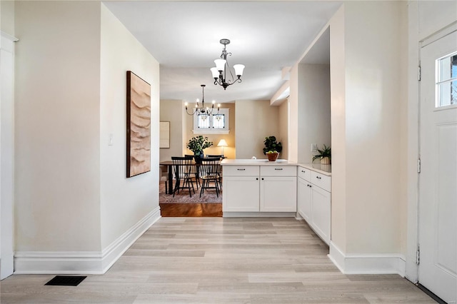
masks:
<path fill-rule="evenodd" d="M 218 114 L 194 115 L 194 133 L 196 134 L 228 134 L 229 109 L 221 108 Z"/>

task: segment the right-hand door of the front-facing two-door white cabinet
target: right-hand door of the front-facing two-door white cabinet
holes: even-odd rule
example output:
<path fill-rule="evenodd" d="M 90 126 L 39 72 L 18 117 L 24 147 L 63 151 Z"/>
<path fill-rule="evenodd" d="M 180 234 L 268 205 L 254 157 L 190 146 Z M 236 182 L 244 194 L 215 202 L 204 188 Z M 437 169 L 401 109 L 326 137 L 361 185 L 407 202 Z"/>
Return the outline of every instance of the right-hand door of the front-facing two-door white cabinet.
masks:
<path fill-rule="evenodd" d="M 266 176 L 260 183 L 260 211 L 296 212 L 297 178 L 295 176 Z"/>

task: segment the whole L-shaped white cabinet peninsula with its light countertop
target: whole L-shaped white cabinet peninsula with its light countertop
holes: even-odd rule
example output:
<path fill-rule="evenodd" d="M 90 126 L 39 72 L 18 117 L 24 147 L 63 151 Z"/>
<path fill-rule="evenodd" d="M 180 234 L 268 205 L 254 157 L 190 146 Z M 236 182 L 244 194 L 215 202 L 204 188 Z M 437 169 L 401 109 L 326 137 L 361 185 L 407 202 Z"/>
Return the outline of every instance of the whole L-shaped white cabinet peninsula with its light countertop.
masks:
<path fill-rule="evenodd" d="M 224 217 L 303 218 L 327 244 L 331 166 L 278 159 L 224 159 Z"/>

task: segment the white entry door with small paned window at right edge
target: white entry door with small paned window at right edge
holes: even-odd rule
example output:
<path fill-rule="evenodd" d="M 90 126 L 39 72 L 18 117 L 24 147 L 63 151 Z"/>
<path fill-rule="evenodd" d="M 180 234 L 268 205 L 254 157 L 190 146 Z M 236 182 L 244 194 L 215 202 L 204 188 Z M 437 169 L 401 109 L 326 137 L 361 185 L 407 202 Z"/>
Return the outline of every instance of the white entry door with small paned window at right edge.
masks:
<path fill-rule="evenodd" d="M 457 31 L 421 48 L 418 281 L 457 298 Z"/>

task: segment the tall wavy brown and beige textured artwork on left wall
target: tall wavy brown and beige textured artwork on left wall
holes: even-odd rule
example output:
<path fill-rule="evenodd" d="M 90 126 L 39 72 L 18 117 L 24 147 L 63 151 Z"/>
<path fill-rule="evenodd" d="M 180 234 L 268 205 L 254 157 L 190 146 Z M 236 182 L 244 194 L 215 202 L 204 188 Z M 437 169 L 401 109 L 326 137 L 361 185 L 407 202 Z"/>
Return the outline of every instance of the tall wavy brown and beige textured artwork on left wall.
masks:
<path fill-rule="evenodd" d="M 127 177 L 151 171 L 151 85 L 127 71 Z"/>

